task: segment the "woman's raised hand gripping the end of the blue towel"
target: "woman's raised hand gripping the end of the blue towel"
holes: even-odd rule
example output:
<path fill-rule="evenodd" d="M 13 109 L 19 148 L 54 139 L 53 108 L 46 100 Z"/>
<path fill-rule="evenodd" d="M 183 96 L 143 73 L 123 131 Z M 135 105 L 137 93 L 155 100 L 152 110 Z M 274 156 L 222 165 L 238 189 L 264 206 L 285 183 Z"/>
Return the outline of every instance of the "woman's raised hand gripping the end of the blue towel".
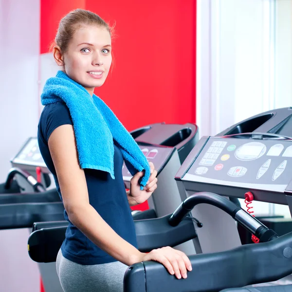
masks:
<path fill-rule="evenodd" d="M 137 205 L 145 202 L 155 191 L 157 188 L 157 171 L 154 169 L 154 164 L 149 162 L 150 166 L 150 177 L 149 181 L 147 182 L 144 190 L 140 190 L 140 178 L 143 177 L 144 172 L 140 171 L 137 172 L 132 178 L 130 182 L 130 191 L 128 193 L 128 201 L 130 205 Z"/>

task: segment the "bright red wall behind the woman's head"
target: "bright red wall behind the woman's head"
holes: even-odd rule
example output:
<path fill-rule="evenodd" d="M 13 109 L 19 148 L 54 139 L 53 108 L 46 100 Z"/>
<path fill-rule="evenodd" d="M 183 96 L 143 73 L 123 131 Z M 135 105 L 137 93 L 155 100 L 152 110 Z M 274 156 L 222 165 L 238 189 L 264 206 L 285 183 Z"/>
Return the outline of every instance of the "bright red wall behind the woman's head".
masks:
<path fill-rule="evenodd" d="M 116 23 L 115 66 L 95 93 L 128 130 L 195 122 L 196 0 L 41 0 L 41 53 L 75 8 Z"/>

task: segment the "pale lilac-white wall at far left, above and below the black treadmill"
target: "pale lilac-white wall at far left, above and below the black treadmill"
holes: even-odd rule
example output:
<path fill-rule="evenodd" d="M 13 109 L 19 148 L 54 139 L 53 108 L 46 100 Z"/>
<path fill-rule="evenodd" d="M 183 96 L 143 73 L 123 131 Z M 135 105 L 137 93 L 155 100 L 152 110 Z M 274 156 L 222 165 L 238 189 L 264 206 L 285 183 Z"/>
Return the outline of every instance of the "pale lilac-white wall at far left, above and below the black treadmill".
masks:
<path fill-rule="evenodd" d="M 38 123 L 39 1 L 0 0 L 0 183 Z M 39 292 L 27 229 L 0 230 L 0 291 Z"/>

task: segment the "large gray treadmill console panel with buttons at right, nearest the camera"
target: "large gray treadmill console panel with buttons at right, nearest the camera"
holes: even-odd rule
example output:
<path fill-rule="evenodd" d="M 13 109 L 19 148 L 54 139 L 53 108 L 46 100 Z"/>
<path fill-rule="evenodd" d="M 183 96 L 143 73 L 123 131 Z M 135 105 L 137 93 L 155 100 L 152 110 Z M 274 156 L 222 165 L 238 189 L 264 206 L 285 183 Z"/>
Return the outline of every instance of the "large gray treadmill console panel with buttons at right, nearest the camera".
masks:
<path fill-rule="evenodd" d="M 292 179 L 291 167 L 291 140 L 210 137 L 181 179 L 234 186 L 248 184 L 260 189 L 271 185 L 282 188 Z"/>

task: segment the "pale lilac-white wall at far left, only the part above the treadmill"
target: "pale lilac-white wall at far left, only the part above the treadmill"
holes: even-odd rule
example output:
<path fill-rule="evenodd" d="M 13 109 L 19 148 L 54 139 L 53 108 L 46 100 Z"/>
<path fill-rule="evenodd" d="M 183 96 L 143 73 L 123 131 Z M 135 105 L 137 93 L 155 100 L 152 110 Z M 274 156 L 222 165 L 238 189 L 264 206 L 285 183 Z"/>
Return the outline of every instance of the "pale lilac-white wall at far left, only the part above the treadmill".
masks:
<path fill-rule="evenodd" d="M 39 1 L 0 0 L 0 182 L 38 123 Z"/>

